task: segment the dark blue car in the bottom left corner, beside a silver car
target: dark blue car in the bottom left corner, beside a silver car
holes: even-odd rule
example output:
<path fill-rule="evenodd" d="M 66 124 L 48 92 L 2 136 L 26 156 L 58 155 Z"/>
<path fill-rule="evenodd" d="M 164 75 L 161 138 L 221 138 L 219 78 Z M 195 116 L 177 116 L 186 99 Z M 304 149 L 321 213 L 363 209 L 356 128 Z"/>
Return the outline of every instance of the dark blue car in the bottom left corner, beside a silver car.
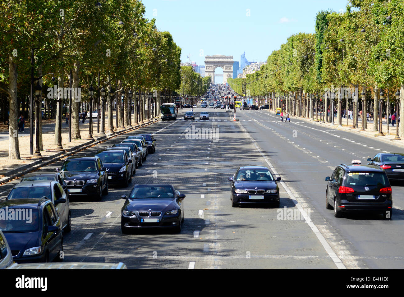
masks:
<path fill-rule="evenodd" d="M 0 215 L 0 228 L 13 260 L 17 263 L 63 261 L 61 219 L 52 201 L 46 198 L 0 201 L 0 213 L 9 213 L 11 209 L 16 215 Z"/>

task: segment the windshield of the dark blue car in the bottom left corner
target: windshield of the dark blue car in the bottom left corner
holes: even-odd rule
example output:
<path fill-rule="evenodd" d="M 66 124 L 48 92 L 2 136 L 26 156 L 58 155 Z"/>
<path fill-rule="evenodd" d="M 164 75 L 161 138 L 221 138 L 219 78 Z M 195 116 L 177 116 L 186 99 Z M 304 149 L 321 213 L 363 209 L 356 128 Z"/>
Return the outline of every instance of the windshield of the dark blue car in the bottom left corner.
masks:
<path fill-rule="evenodd" d="M 38 209 L 0 208 L 0 229 L 4 233 L 38 231 Z"/>

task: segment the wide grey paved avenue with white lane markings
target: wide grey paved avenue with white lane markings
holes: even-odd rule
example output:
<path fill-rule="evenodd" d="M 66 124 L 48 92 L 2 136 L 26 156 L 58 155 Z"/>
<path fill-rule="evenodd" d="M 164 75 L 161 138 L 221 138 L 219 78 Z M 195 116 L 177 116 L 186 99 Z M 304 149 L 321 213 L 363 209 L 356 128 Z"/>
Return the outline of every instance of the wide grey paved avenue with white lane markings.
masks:
<path fill-rule="evenodd" d="M 153 133 L 157 147 L 137 169 L 132 185 L 110 189 L 101 202 L 71 200 L 72 232 L 64 238 L 65 261 L 122 261 L 128 268 L 404 267 L 398 236 L 402 232 L 402 188 L 393 189 L 392 221 L 373 216 L 337 219 L 324 206 L 324 177 L 337 164 L 373 156 L 376 148 L 391 148 L 362 137 L 365 147 L 344 139 L 345 134 L 352 136 L 347 132 L 322 132 L 303 121 L 278 122 L 267 112 L 237 111 L 240 121 L 234 122 L 232 112 L 212 109 L 206 110 L 210 120 L 198 120 L 202 110 L 194 109 L 195 121 L 183 120 L 184 109 L 177 121 L 137 131 Z M 212 128 L 219 134 L 196 139 L 189 131 L 198 132 L 197 128 Z M 293 137 L 295 131 L 297 137 Z M 109 139 L 80 154 L 93 154 L 125 137 Z M 248 164 L 273 165 L 285 181 L 280 184 L 282 211 L 286 207 L 299 213 L 303 208 L 310 211 L 311 220 L 279 219 L 281 211 L 274 208 L 232 208 L 227 177 Z M 57 162 L 41 170 L 60 166 Z M 1 186 L 0 196 L 16 182 Z M 181 234 L 121 233 L 123 200 L 119 197 L 136 183 L 171 183 L 186 195 Z"/>

